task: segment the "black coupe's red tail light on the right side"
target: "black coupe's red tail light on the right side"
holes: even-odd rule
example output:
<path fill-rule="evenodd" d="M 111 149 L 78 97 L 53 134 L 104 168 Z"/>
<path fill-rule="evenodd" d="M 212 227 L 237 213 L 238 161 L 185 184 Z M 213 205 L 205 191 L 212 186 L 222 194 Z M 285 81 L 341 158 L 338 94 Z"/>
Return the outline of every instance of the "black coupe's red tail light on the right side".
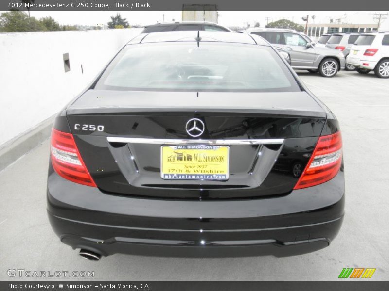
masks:
<path fill-rule="evenodd" d="M 304 172 L 294 189 L 324 183 L 334 178 L 342 164 L 342 137 L 340 132 L 321 136 Z"/>

